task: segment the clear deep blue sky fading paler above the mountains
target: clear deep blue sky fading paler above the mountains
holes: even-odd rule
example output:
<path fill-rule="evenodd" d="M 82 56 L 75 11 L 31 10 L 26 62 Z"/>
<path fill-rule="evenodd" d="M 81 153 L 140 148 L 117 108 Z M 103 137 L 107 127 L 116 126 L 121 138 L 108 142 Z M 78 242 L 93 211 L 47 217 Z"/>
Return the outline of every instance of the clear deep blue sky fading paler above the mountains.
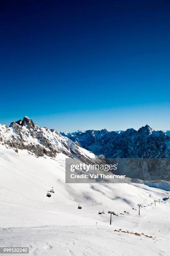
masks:
<path fill-rule="evenodd" d="M 170 1 L 0 5 L 0 123 L 170 129 Z"/>

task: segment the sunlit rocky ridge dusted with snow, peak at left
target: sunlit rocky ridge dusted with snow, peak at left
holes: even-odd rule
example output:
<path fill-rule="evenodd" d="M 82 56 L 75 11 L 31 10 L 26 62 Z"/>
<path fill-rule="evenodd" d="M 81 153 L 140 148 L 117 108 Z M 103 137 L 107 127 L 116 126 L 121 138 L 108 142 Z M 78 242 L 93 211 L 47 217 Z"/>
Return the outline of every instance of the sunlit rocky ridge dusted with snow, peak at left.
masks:
<path fill-rule="evenodd" d="M 15 151 L 25 149 L 36 156 L 55 157 L 56 154 L 63 153 L 82 161 L 87 161 L 89 157 L 96 157 L 69 138 L 62 136 L 55 129 L 36 125 L 27 116 L 23 120 L 12 122 L 9 127 L 0 125 L 0 144 L 13 148 Z"/>

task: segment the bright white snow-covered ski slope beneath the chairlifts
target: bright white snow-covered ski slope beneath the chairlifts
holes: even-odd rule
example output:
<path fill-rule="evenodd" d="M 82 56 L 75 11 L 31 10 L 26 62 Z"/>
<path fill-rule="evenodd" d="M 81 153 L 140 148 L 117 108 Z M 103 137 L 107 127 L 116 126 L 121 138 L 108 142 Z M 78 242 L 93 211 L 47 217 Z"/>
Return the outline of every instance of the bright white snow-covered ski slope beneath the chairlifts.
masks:
<path fill-rule="evenodd" d="M 169 192 L 144 184 L 65 184 L 65 157 L 0 146 L 0 247 L 28 246 L 31 256 L 170 255 L 170 202 L 142 207 L 140 216 L 137 206 Z M 119 215 L 112 225 L 108 210 Z M 121 232 L 127 230 L 153 238 Z"/>

